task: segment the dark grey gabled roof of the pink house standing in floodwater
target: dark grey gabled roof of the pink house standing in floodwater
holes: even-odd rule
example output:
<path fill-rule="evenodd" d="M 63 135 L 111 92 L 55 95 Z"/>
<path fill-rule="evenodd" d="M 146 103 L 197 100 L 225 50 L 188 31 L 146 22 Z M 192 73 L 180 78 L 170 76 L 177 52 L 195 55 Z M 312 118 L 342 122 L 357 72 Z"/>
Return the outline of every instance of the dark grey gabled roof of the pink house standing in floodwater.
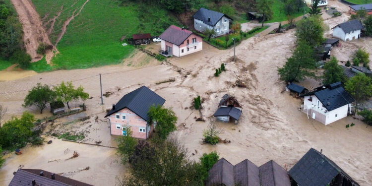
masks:
<path fill-rule="evenodd" d="M 105 116 L 108 117 L 124 108 L 128 108 L 136 115 L 141 117 L 143 120 L 148 119 L 147 113 L 152 105 L 162 106 L 165 99 L 157 95 L 155 92 L 151 91 L 146 86 L 142 86 L 132 92 L 129 92 L 123 96 L 122 99 L 115 105 L 115 110 L 110 110 Z"/>

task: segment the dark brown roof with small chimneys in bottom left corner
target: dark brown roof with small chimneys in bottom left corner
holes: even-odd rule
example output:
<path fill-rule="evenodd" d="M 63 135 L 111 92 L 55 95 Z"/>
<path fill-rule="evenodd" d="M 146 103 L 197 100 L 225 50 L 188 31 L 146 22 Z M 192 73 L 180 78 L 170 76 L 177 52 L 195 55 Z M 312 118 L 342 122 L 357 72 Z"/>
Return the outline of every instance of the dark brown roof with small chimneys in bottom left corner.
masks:
<path fill-rule="evenodd" d="M 40 169 L 18 169 L 9 186 L 92 186 Z"/>

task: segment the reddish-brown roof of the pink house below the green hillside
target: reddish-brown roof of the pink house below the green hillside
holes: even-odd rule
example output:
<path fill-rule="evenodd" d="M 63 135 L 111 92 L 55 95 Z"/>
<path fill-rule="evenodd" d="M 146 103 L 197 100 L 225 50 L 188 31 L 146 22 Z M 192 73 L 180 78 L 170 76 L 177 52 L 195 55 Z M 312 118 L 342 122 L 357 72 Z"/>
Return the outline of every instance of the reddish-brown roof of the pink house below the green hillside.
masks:
<path fill-rule="evenodd" d="M 191 34 L 192 32 L 189 30 L 171 25 L 159 36 L 159 38 L 180 46 Z"/>

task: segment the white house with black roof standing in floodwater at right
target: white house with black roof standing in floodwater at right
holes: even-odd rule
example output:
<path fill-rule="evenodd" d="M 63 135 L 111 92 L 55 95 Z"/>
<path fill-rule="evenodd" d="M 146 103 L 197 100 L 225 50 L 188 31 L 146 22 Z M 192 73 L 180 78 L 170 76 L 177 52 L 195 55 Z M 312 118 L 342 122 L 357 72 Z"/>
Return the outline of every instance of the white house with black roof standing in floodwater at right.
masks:
<path fill-rule="evenodd" d="M 341 82 L 315 88 L 305 94 L 304 109 L 310 118 L 322 123 L 330 124 L 347 117 L 354 99 L 341 86 Z"/>

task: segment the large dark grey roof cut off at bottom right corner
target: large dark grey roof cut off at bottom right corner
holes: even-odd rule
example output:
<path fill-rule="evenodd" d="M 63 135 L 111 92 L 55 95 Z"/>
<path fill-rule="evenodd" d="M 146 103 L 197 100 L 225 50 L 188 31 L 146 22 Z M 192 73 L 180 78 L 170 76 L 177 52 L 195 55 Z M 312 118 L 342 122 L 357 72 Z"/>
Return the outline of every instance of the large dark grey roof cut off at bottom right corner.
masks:
<path fill-rule="evenodd" d="M 313 148 L 288 173 L 294 186 L 359 186 L 332 160 Z"/>

